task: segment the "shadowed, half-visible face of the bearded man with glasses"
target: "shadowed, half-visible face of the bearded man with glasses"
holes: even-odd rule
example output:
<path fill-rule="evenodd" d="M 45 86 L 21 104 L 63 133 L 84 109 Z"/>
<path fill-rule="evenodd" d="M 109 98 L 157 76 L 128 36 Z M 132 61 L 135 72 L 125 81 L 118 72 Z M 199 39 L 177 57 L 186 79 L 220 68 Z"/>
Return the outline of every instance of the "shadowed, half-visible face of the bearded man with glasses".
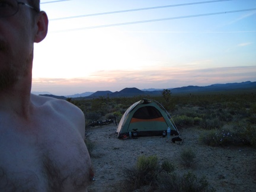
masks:
<path fill-rule="evenodd" d="M 32 68 L 36 33 L 33 9 L 18 6 L 17 14 L 0 18 L 0 91 L 30 75 Z"/>

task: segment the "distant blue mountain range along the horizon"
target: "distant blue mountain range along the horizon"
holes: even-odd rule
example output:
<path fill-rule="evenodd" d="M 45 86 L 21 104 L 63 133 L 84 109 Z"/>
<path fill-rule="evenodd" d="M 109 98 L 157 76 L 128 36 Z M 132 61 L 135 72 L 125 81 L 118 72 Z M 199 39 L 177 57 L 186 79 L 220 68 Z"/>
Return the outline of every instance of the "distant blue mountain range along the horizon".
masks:
<path fill-rule="evenodd" d="M 218 92 L 218 91 L 246 91 L 246 90 L 254 90 L 256 91 L 256 82 L 241 82 L 241 83 L 229 83 L 229 84 L 213 84 L 208 85 L 204 87 L 200 86 L 194 86 L 189 85 L 187 87 L 179 87 L 179 88 L 168 88 L 171 90 L 172 94 L 187 94 L 187 93 L 197 93 L 197 92 Z M 143 89 L 145 90 L 145 89 Z M 85 97 L 77 97 L 74 99 L 91 99 L 91 98 L 97 98 L 97 97 L 133 97 L 137 95 L 161 95 L 163 89 L 150 89 L 151 91 L 142 91 L 140 89 L 137 89 L 135 87 L 133 88 L 124 88 L 121 91 L 111 92 L 111 91 L 97 91 L 93 94 Z M 55 97 L 55 98 L 61 98 L 66 99 L 66 97 L 63 96 L 55 96 L 55 95 L 49 95 L 46 94 L 44 96 L 47 97 Z"/>

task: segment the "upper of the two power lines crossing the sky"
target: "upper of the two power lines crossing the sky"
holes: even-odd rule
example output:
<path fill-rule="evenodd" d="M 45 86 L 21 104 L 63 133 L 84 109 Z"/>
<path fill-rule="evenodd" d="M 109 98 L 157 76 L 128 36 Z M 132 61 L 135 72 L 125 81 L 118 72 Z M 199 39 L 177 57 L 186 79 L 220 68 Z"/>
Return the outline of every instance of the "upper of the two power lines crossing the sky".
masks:
<path fill-rule="evenodd" d="M 67 19 L 72 19 L 72 18 L 91 17 L 91 16 L 97 16 L 97 15 L 117 14 L 117 13 L 121 13 L 121 12 L 143 11 L 143 10 L 148 10 L 148 9 L 160 9 L 160 8 L 168 8 L 168 7 L 181 7 L 181 6 L 186 6 L 186 5 L 209 4 L 209 3 L 213 3 L 213 2 L 222 2 L 222 1 L 233 1 L 233 0 L 201 1 L 201 2 L 193 2 L 193 3 L 187 3 L 187 4 L 164 5 L 164 6 L 159 6 L 159 7 L 146 7 L 146 8 L 138 8 L 138 9 L 127 9 L 127 10 L 122 10 L 122 11 L 100 12 L 100 13 L 96 13 L 96 14 L 53 18 L 53 19 L 50 19 L 49 21 L 67 20 Z"/>

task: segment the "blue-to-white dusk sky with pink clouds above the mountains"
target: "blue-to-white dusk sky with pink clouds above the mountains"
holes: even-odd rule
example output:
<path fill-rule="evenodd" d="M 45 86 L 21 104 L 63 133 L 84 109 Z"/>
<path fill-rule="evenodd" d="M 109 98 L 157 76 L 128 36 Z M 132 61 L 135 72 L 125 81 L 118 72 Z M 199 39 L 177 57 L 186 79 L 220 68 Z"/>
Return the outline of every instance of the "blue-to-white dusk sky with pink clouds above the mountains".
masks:
<path fill-rule="evenodd" d="M 32 92 L 256 81 L 255 0 L 41 0 Z"/>

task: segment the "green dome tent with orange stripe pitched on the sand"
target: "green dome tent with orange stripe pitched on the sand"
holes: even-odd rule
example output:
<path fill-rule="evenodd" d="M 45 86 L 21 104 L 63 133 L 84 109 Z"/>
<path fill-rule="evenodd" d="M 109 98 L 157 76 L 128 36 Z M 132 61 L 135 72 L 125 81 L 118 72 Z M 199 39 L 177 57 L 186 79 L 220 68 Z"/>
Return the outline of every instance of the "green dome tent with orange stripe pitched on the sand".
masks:
<path fill-rule="evenodd" d="M 155 100 L 143 99 L 132 104 L 121 117 L 117 127 L 118 138 L 129 136 L 159 136 L 167 133 L 180 135 L 168 112 Z"/>

